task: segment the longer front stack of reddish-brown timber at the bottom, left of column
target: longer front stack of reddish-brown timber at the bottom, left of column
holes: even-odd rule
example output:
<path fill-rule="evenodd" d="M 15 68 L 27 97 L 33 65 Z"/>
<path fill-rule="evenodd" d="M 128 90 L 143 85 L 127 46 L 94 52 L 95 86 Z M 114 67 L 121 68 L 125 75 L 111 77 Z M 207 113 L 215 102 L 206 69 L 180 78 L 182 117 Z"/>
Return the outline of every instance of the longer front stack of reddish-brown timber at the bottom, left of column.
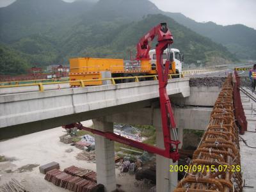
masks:
<path fill-rule="evenodd" d="M 97 184 L 91 180 L 69 175 L 60 170 L 51 170 L 46 173 L 45 180 L 52 182 L 54 185 L 75 192 L 100 192 L 104 191 L 102 184 Z"/>

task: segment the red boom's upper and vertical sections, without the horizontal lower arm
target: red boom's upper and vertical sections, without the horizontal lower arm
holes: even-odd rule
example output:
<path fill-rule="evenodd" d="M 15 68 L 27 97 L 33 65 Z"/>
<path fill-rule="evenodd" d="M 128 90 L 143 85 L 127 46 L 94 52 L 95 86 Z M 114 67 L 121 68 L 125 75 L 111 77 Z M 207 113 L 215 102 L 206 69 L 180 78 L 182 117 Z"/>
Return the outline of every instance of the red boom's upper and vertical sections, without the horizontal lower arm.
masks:
<path fill-rule="evenodd" d="M 178 140 L 177 131 L 175 129 L 176 124 L 172 112 L 172 105 L 166 92 L 170 67 L 170 45 L 173 43 L 173 36 L 167 28 L 166 23 L 157 25 L 151 29 L 147 35 L 141 38 L 137 45 L 136 59 L 150 60 L 148 52 L 150 51 L 150 43 L 155 36 L 157 36 L 158 41 L 158 44 L 156 45 L 156 64 L 159 81 L 159 100 L 163 126 L 164 148 L 166 153 L 165 156 L 173 159 L 173 161 L 177 161 L 179 159 L 178 145 L 180 141 Z M 165 64 L 163 64 L 163 52 L 166 48 L 168 48 L 169 54 Z M 171 139 L 170 129 L 173 131 L 175 140 Z M 173 151 L 174 148 L 175 150 Z"/>

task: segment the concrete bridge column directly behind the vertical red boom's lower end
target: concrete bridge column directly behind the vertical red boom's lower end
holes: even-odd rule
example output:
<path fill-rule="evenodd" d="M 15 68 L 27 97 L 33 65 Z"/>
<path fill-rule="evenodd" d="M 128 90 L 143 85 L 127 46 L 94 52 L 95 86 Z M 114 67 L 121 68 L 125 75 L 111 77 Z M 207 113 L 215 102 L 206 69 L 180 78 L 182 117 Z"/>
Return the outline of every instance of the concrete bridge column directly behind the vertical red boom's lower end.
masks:
<path fill-rule="evenodd" d="M 156 145 L 164 148 L 163 131 L 161 125 L 161 113 L 159 109 L 154 109 L 154 127 L 156 127 Z M 172 159 L 163 156 L 156 156 L 156 191 L 173 191 L 178 182 L 178 173 L 170 172 L 170 165 L 175 166 Z"/>

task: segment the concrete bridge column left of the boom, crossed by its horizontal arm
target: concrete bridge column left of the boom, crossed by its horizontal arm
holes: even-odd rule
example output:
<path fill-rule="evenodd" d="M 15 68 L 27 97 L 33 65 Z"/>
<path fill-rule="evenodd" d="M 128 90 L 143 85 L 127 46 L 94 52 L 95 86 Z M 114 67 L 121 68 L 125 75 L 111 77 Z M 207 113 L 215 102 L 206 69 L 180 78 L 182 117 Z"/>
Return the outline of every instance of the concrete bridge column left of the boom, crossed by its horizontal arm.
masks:
<path fill-rule="evenodd" d="M 113 122 L 105 122 L 101 119 L 93 120 L 94 129 L 113 132 Z M 115 175 L 115 147 L 114 141 L 110 141 L 95 134 L 95 154 L 97 168 L 97 182 L 105 186 L 105 191 L 116 189 Z"/>

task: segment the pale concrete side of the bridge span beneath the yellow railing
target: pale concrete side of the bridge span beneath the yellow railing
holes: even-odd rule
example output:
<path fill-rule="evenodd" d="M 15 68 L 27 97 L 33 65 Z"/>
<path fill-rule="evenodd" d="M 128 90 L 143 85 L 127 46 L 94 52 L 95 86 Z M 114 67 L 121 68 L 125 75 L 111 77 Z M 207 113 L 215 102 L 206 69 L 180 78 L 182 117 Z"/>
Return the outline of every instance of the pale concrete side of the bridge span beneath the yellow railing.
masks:
<path fill-rule="evenodd" d="M 170 79 L 168 95 L 188 97 L 189 78 Z M 63 124 L 151 106 L 159 97 L 158 81 L 108 84 L 65 90 L 0 95 L 0 139 Z M 15 127 L 24 127 L 22 133 Z M 7 131 L 8 129 L 8 131 Z M 13 131 L 12 131 L 13 130 Z"/>

